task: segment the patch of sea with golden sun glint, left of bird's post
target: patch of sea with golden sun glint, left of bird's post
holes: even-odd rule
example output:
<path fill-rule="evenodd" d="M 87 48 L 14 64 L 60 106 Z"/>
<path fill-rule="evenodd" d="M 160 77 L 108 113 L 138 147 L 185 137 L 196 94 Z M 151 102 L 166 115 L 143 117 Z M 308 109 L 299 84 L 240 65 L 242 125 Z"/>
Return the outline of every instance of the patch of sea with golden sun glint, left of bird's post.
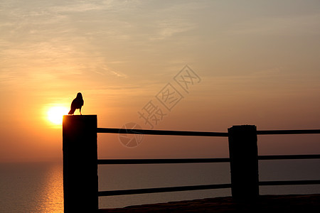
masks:
<path fill-rule="evenodd" d="M 62 163 L 0 163 L 0 212 L 63 212 Z"/>

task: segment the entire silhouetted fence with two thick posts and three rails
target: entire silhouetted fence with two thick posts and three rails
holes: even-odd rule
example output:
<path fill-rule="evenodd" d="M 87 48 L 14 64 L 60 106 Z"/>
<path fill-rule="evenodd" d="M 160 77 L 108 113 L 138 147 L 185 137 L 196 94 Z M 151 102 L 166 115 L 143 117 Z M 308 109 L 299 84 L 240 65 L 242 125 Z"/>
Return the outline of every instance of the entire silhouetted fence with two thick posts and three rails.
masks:
<path fill-rule="evenodd" d="M 161 136 L 228 137 L 230 158 L 97 159 L 97 133 L 132 133 Z M 65 212 L 94 212 L 98 197 L 187 190 L 231 188 L 234 200 L 255 200 L 260 185 L 314 185 L 320 180 L 259 181 L 258 160 L 320 159 L 320 155 L 258 155 L 257 135 L 314 134 L 314 130 L 257 131 L 256 126 L 233 126 L 226 133 L 97 128 L 97 116 L 63 117 L 63 192 Z M 98 191 L 97 166 L 103 164 L 230 163 L 231 183 Z M 81 188 L 79 188 L 81 185 Z"/>

